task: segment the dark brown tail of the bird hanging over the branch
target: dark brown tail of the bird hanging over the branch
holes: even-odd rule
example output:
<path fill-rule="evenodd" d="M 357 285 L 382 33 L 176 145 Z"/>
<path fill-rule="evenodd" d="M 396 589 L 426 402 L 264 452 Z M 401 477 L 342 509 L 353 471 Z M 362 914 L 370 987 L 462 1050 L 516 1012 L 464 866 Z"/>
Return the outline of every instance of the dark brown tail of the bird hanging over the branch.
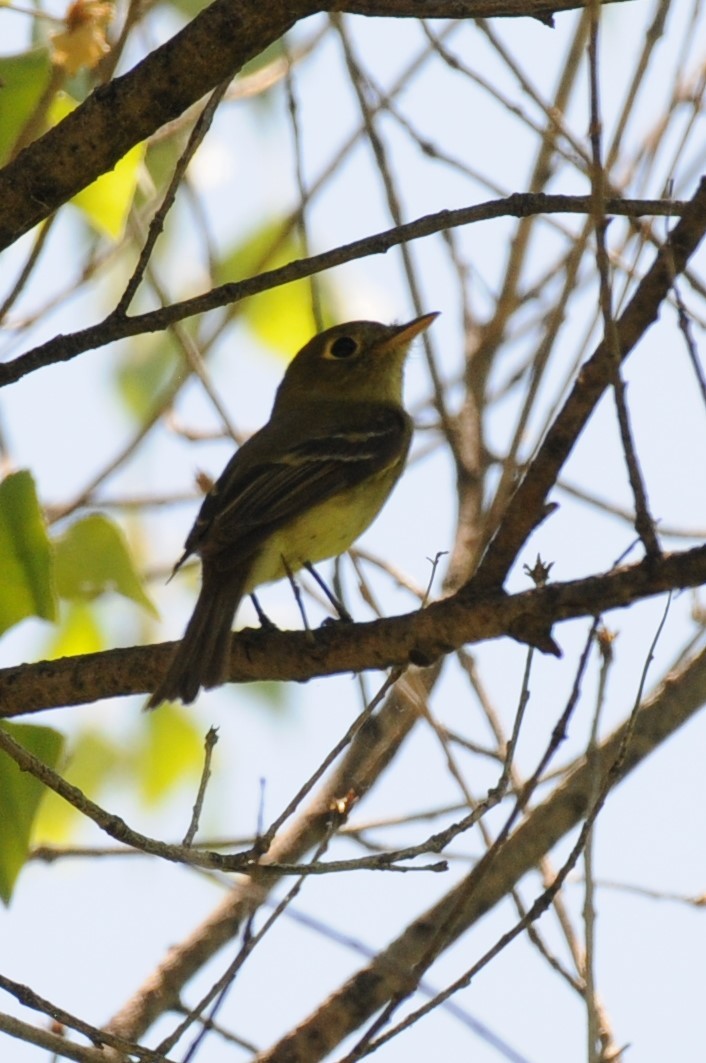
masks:
<path fill-rule="evenodd" d="M 206 568 L 206 567 L 204 567 Z M 181 698 L 192 702 L 202 687 L 218 687 L 228 678 L 233 618 L 242 596 L 243 579 L 230 573 L 203 572 L 201 593 L 176 646 L 167 674 L 146 705 Z"/>

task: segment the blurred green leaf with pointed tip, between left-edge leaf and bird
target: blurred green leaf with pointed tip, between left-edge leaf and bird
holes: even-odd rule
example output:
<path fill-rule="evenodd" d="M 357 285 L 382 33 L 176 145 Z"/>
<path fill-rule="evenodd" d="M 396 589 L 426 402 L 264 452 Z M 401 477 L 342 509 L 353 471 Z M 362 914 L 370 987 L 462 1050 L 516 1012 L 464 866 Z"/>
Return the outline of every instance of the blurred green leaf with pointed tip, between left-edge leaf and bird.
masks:
<path fill-rule="evenodd" d="M 101 513 L 72 524 L 54 543 L 56 588 L 68 601 L 93 601 L 115 591 L 136 602 L 153 617 L 157 610 L 147 595 L 120 528 Z"/>

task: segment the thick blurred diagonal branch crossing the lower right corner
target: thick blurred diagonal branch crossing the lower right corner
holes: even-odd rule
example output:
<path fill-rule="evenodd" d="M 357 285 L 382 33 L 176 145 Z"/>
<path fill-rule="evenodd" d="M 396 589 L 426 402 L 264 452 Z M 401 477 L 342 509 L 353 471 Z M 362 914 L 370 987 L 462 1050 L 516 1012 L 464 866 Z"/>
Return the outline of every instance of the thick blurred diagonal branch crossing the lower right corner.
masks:
<path fill-rule="evenodd" d="M 706 651 L 638 710 L 627 750 L 623 743 L 631 722 L 615 731 L 584 760 L 547 800 L 527 816 L 491 864 L 478 861 L 473 871 L 433 908 L 423 912 L 400 937 L 333 993 L 313 1015 L 268 1051 L 257 1063 L 316 1063 L 380 1008 L 418 983 L 434 958 L 493 908 L 527 872 L 589 812 L 596 777 L 612 790 L 665 739 L 674 733 L 706 701 Z M 470 964 L 469 964 L 470 965 Z"/>

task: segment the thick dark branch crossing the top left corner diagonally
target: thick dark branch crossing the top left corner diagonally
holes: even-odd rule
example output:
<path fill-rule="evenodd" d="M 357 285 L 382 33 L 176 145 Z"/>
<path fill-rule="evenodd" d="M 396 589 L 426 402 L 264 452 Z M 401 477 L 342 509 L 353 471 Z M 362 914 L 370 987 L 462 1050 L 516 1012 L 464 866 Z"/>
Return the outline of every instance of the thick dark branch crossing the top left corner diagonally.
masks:
<path fill-rule="evenodd" d="M 118 159 L 263 52 L 300 19 L 335 7 L 379 17 L 484 18 L 583 7 L 584 0 L 399 0 L 336 4 L 314 0 L 215 0 L 184 30 L 0 170 L 0 251 L 112 170 Z"/>

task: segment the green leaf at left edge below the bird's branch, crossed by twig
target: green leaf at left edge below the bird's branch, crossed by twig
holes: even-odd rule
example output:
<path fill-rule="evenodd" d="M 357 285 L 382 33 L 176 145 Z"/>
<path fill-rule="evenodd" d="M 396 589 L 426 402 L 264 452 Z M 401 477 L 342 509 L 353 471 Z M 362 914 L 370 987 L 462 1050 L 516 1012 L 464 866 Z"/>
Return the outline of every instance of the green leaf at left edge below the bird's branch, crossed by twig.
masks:
<path fill-rule="evenodd" d="M 2 724 L 16 742 L 50 767 L 58 761 L 64 738 L 50 727 Z M 17 876 L 30 850 L 30 838 L 47 788 L 21 772 L 14 760 L 0 753 L 0 897 L 10 902 Z"/>

